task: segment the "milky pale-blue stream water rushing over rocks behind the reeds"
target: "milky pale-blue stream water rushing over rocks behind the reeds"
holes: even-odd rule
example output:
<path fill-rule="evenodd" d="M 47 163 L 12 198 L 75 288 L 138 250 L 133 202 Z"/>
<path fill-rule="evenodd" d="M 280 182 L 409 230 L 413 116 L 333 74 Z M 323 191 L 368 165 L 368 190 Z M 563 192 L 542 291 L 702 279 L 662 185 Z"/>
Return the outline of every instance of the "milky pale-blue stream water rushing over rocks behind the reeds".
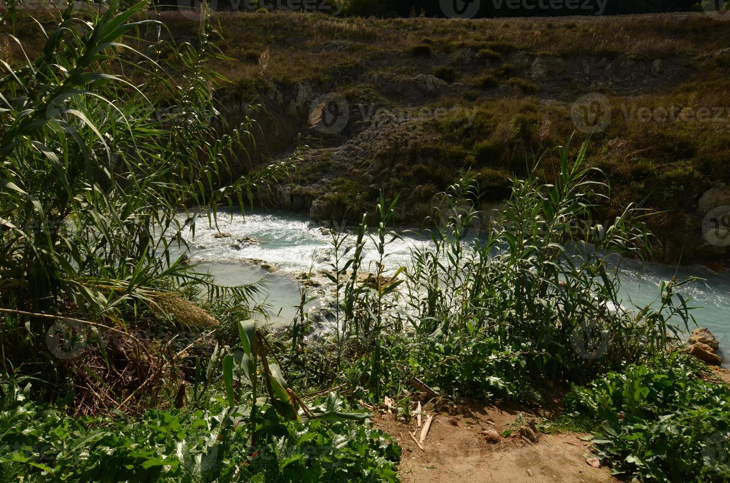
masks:
<path fill-rule="evenodd" d="M 356 227 L 349 227 L 356 228 Z M 220 236 L 225 233 L 230 236 Z M 216 237 L 218 234 L 218 237 Z M 246 240 L 254 239 L 255 242 Z M 269 304 L 269 320 L 274 324 L 291 322 L 301 295 L 299 282 L 293 277 L 301 272 L 329 268 L 331 236 L 321 225 L 304 215 L 276 210 L 256 211 L 245 216 L 219 214 L 218 230 L 207 223 L 198 223 L 196 235 L 188 237 L 191 261 L 210 271 L 224 285 L 242 285 L 265 279 L 261 295 Z M 388 247 L 387 266 L 397 267 L 410 260 L 410 248 L 426 241 L 404 236 Z M 365 250 L 365 263 L 372 263 L 376 253 Z M 257 260 L 257 261 L 253 261 Z M 272 266 L 275 272 L 269 271 Z M 666 266 L 628 262 L 619 272 L 623 306 L 644 306 L 656 301 L 663 280 L 695 276 L 703 280 L 680 287 L 685 298 L 691 298 L 697 324 L 707 327 L 720 341 L 720 354 L 730 355 L 730 273 L 715 274 L 704 266 Z M 310 295 L 317 290 L 310 289 Z M 320 289 L 320 293 L 322 290 Z M 314 300 L 307 309 L 318 306 Z M 723 354 L 723 349 L 725 354 Z M 730 367 L 730 361 L 723 366 Z"/>

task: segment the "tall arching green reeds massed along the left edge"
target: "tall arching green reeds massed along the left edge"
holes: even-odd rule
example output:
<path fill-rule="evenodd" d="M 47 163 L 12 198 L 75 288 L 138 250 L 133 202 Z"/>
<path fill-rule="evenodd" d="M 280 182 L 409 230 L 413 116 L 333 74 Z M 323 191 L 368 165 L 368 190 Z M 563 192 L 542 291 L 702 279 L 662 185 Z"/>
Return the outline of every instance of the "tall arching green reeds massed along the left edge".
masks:
<path fill-rule="evenodd" d="M 39 58 L 2 63 L 5 371 L 26 363 L 53 382 L 45 337 L 64 319 L 44 314 L 132 337 L 165 322 L 210 328 L 216 320 L 204 306 L 214 299 L 247 306 L 255 290 L 220 287 L 197 273 L 184 258 L 182 233 L 194 233 L 199 213 L 210 220 L 218 206 L 243 206 L 282 168 L 234 177 L 231 160 L 250 135 L 246 124 L 229 129 L 217 121 L 212 83 L 222 79 L 209 66 L 221 56 L 208 41 L 205 15 L 193 46 L 164 40 L 164 24 L 146 9 L 146 2 L 112 1 L 103 11 L 69 6 L 53 31 L 39 24 Z M 101 346 L 103 333 L 93 338 Z M 113 371 L 108 360 L 104 366 L 107 384 Z"/>

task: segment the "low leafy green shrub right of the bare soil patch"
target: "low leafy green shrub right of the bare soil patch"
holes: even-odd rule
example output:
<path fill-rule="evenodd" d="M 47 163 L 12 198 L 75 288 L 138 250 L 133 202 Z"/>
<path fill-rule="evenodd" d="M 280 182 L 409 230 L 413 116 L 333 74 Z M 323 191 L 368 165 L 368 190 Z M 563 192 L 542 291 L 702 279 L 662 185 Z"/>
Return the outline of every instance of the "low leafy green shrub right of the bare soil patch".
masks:
<path fill-rule="evenodd" d="M 642 482 L 726 482 L 730 388 L 699 378 L 700 363 L 672 355 L 573 387 L 569 409 L 600 422 L 593 444 L 615 474 Z"/>

